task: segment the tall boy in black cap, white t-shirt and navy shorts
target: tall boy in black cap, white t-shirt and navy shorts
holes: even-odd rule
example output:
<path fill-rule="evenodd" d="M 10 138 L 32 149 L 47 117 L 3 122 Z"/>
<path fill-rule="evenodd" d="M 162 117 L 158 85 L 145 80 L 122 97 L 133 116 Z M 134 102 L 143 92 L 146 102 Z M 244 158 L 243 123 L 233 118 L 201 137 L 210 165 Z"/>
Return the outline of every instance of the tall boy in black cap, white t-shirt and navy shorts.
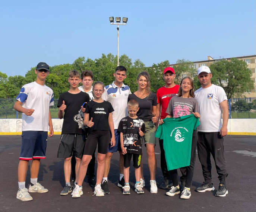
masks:
<path fill-rule="evenodd" d="M 51 122 L 50 107 L 53 106 L 53 90 L 45 86 L 45 79 L 50 71 L 49 65 L 39 62 L 35 70 L 35 82 L 25 84 L 16 98 L 14 109 L 22 113 L 22 143 L 20 149 L 17 199 L 30 201 L 33 198 L 29 192 L 46 193 L 37 182 L 40 159 L 45 158 L 47 146 L 48 126 L 53 136 L 53 123 Z M 28 162 L 30 164 L 31 184 L 25 187 Z"/>

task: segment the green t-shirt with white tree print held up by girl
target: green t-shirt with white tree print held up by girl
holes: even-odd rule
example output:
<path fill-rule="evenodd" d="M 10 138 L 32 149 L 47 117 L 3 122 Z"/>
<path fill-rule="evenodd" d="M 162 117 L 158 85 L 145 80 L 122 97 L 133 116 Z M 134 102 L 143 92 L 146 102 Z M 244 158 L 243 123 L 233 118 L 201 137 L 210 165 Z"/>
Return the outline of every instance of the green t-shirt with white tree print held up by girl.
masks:
<path fill-rule="evenodd" d="M 155 136 L 164 140 L 167 168 L 173 170 L 190 165 L 193 130 L 200 125 L 193 114 L 178 118 L 165 118 Z"/>

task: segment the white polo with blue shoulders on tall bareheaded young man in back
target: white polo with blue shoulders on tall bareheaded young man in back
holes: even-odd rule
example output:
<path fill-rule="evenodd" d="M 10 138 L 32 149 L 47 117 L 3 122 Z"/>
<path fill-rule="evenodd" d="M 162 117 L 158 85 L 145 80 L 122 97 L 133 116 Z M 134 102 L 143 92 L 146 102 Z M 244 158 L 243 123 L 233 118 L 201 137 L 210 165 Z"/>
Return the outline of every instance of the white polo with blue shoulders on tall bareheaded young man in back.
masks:
<path fill-rule="evenodd" d="M 110 102 L 114 108 L 114 112 L 112 112 L 114 129 L 118 129 L 121 119 L 128 115 L 127 100 L 129 94 L 131 94 L 130 88 L 125 84 L 122 84 L 121 87 L 117 87 L 113 82 L 104 88 L 102 99 Z"/>

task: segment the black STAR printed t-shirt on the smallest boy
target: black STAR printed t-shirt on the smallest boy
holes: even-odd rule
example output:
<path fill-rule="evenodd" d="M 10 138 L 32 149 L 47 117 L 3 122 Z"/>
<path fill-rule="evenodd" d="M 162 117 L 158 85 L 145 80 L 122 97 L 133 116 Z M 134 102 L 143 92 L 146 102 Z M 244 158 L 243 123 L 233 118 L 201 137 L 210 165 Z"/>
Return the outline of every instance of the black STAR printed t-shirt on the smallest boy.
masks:
<path fill-rule="evenodd" d="M 119 123 L 118 131 L 123 133 L 124 147 L 128 153 L 141 155 L 142 137 L 139 135 L 139 128 L 145 133 L 145 123 L 138 117 L 132 119 L 127 116 Z"/>

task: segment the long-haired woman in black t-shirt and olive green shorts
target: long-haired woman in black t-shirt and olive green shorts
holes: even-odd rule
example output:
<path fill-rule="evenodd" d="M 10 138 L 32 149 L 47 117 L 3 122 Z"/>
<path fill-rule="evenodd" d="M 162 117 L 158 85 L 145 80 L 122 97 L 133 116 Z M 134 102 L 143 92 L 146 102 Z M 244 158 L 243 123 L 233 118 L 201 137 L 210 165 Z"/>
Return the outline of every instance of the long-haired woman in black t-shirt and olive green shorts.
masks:
<path fill-rule="evenodd" d="M 145 123 L 146 132 L 143 136 L 147 154 L 148 154 L 148 166 L 150 171 L 150 192 L 157 193 L 157 183 L 155 181 L 155 172 L 157 168 L 157 158 L 155 157 L 155 122 L 157 122 L 157 95 L 150 91 L 150 77 L 148 72 L 143 71 L 137 78 L 138 90 L 128 96 L 128 102 L 131 99 L 135 99 L 139 103 L 139 111 L 137 116 Z M 140 165 L 141 179 L 143 186 L 145 181 L 143 177 L 143 166 Z"/>

